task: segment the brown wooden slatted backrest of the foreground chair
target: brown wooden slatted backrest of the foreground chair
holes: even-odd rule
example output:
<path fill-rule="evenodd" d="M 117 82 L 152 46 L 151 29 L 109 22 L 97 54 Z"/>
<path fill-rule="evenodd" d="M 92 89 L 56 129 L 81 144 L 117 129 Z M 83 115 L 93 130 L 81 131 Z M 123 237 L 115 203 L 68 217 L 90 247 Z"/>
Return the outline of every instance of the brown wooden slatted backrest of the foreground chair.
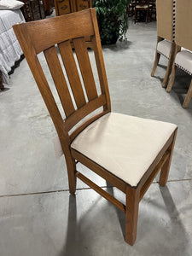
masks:
<path fill-rule="evenodd" d="M 54 122 L 64 154 L 68 154 L 73 138 L 84 127 L 111 109 L 96 11 L 86 9 L 70 15 L 18 24 L 14 26 L 14 30 Z M 87 37 L 91 38 L 89 45 L 85 42 Z M 88 46 L 95 54 L 100 95 L 90 65 Z M 44 52 L 59 95 L 66 116 L 64 119 L 51 91 L 52 85 L 48 83 L 38 60 L 38 54 L 41 52 Z M 100 113 L 95 113 L 79 125 L 79 121 L 101 107 Z"/>

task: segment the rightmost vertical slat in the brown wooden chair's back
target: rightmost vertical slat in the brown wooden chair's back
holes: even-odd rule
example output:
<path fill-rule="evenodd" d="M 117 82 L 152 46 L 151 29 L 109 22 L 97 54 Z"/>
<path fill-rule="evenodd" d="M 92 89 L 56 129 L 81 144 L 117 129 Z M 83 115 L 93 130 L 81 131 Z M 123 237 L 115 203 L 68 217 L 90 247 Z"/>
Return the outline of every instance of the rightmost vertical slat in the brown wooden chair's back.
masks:
<path fill-rule="evenodd" d="M 96 84 L 90 66 L 90 58 L 87 52 L 87 47 L 84 38 L 77 38 L 73 40 L 75 51 L 79 61 L 79 67 L 82 77 L 84 79 L 84 87 L 89 101 L 97 97 Z"/>

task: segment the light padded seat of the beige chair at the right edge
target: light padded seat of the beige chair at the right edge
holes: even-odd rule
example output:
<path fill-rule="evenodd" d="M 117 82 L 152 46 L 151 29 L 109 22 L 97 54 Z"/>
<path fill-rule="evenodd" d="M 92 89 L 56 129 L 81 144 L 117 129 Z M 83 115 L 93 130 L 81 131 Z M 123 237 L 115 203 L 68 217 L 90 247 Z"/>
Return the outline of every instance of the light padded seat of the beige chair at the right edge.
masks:
<path fill-rule="evenodd" d="M 192 52 L 189 50 L 181 50 L 175 58 L 177 67 L 182 68 L 185 72 L 192 75 Z"/>

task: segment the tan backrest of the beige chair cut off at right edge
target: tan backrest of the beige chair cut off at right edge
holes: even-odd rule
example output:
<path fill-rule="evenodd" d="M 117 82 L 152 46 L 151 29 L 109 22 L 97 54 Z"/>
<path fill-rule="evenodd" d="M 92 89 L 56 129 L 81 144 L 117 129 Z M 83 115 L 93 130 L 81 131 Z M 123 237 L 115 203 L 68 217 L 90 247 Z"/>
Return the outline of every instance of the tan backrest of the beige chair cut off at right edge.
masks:
<path fill-rule="evenodd" d="M 175 42 L 192 50 L 192 1 L 177 0 Z"/>

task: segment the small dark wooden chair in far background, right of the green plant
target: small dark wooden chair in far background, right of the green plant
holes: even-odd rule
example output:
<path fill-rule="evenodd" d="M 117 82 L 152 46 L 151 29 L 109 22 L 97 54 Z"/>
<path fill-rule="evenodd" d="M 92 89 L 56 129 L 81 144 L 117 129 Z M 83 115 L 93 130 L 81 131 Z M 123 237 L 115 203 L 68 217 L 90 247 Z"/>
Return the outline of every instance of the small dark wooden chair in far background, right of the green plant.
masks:
<path fill-rule="evenodd" d="M 135 23 L 138 20 L 138 17 L 141 17 L 143 12 L 146 13 L 145 22 L 148 22 L 148 19 L 152 19 L 152 10 L 153 4 L 149 3 L 149 0 L 136 0 L 134 11 L 135 11 Z"/>

